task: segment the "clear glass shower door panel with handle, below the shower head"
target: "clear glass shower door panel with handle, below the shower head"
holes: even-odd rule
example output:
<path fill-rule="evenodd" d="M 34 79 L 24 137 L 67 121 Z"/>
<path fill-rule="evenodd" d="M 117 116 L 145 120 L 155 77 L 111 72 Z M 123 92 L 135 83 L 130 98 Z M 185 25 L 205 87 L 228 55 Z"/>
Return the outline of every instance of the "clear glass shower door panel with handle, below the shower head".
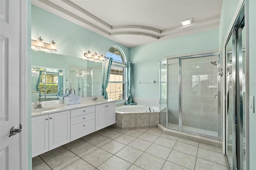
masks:
<path fill-rule="evenodd" d="M 219 138 L 218 56 L 181 59 L 182 131 Z"/>

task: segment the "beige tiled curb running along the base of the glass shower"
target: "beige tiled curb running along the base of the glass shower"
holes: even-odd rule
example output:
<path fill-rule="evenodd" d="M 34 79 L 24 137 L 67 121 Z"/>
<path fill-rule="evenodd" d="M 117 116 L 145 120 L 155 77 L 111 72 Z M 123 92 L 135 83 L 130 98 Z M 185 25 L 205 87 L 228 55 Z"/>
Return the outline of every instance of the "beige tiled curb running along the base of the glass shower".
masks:
<path fill-rule="evenodd" d="M 176 130 L 166 129 L 161 124 L 158 124 L 158 128 L 164 134 L 169 134 L 169 135 L 176 136 L 176 137 L 179 137 L 179 138 L 184 138 L 184 139 L 188 139 L 188 140 L 200 142 L 200 143 L 203 143 L 203 144 L 208 144 L 208 145 L 217 146 L 219 148 L 222 148 L 222 141 L 221 140 L 206 138 L 206 137 L 203 137 L 203 136 L 199 137 L 199 136 L 195 136 L 193 134 L 188 134 L 186 132 L 180 132 L 180 131 L 176 131 Z"/>

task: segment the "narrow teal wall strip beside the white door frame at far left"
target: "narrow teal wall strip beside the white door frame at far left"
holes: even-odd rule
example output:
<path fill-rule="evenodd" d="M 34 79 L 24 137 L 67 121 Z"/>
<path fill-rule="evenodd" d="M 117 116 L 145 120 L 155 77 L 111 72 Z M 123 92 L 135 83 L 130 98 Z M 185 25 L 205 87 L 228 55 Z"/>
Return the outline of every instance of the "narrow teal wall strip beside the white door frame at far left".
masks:
<path fill-rule="evenodd" d="M 27 79 L 31 79 L 31 2 L 30 0 L 27 1 L 28 2 L 28 10 L 27 10 L 27 14 L 28 14 L 28 21 L 27 21 L 27 34 L 28 34 L 28 55 L 27 55 L 27 74 L 28 77 Z M 31 101 L 31 81 L 27 81 L 27 90 L 28 90 L 28 101 Z M 28 170 L 32 170 L 32 145 L 31 145 L 31 102 L 27 103 L 27 107 L 28 107 L 28 123 L 27 123 L 27 133 L 28 133 Z"/>

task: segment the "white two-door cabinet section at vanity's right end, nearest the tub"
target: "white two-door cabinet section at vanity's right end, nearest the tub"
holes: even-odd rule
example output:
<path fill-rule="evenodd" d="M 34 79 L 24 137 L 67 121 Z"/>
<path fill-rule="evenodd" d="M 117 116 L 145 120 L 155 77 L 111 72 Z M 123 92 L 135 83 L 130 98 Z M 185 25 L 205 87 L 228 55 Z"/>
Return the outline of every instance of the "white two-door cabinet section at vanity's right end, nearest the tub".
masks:
<path fill-rule="evenodd" d="M 95 131 L 116 123 L 116 103 L 95 106 Z"/>

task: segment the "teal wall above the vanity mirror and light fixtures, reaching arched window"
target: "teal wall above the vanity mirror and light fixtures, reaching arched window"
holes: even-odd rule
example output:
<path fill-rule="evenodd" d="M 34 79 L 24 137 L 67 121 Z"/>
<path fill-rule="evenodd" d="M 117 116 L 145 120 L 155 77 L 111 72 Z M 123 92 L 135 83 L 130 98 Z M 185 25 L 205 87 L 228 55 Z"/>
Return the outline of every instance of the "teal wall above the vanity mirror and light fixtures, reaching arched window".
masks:
<path fill-rule="evenodd" d="M 57 47 L 56 53 L 82 58 L 89 49 L 92 53 L 96 51 L 98 54 L 106 55 L 109 47 L 117 45 L 124 51 L 129 61 L 128 47 L 82 28 L 37 6 L 32 5 L 31 10 L 32 40 L 37 40 L 39 36 L 45 43 L 50 43 L 50 41 L 54 40 Z"/>

